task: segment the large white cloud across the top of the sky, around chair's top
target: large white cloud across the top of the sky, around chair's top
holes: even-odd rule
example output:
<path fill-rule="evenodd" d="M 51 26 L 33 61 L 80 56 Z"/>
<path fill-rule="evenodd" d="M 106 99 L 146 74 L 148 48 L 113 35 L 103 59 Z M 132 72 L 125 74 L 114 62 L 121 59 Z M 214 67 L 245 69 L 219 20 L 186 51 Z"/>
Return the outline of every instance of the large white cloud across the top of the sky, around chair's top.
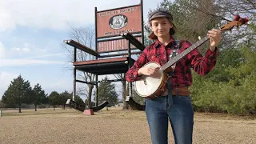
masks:
<path fill-rule="evenodd" d="M 144 0 L 144 15 L 161 1 Z M 65 30 L 67 22 L 75 26 L 85 26 L 94 24 L 94 7 L 98 10 L 109 10 L 136 5 L 139 2 L 140 0 L 1 0 L 0 31 L 13 30 L 17 26 Z"/>

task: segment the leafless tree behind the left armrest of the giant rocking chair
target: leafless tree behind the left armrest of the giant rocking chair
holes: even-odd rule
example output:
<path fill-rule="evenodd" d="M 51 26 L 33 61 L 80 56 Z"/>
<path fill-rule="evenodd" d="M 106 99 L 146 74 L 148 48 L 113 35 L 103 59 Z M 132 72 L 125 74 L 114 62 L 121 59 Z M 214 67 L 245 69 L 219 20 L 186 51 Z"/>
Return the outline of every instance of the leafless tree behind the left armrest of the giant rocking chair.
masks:
<path fill-rule="evenodd" d="M 90 49 L 95 50 L 95 30 L 94 28 L 87 27 L 75 27 L 69 24 L 70 30 L 68 32 L 68 36 L 74 41 L 81 43 L 84 46 L 89 47 Z M 73 62 L 74 57 L 74 48 L 70 46 L 63 46 L 64 50 L 68 52 L 68 61 Z M 77 61 L 88 61 L 96 59 L 95 56 L 91 54 L 86 54 L 82 50 L 77 50 Z M 70 68 L 72 69 L 72 68 Z M 93 82 L 95 79 L 95 74 L 90 74 L 88 72 L 78 71 L 77 79 L 82 80 L 84 82 Z M 94 88 L 93 84 L 86 84 L 86 86 L 80 86 L 77 89 L 77 94 L 85 95 L 88 100 L 88 105 L 91 106 L 91 97 L 92 90 Z"/>

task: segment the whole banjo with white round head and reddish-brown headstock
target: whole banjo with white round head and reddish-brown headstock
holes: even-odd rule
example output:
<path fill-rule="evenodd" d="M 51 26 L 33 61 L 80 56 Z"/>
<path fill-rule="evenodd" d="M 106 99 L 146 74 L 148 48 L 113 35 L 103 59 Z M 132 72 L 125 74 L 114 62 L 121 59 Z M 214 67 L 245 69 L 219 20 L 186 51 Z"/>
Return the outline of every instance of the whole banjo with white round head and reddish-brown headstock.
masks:
<path fill-rule="evenodd" d="M 234 21 L 228 22 L 226 25 L 221 26 L 221 31 L 232 30 L 234 26 L 242 26 L 248 22 L 248 18 L 240 18 L 240 16 L 235 15 Z M 170 77 L 168 73 L 174 71 L 176 62 L 189 54 L 194 49 L 201 46 L 203 43 L 208 41 L 210 38 L 207 36 L 200 39 L 198 42 L 195 42 L 192 46 L 182 51 L 180 54 L 176 52 L 173 55 L 170 55 L 170 60 L 166 62 L 163 66 L 160 66 L 157 62 L 148 62 L 142 67 L 160 67 L 156 77 L 151 77 L 147 75 L 142 75 L 142 78 L 134 82 L 134 87 L 136 93 L 142 98 L 152 98 L 162 94 L 166 90 L 166 83 Z"/>

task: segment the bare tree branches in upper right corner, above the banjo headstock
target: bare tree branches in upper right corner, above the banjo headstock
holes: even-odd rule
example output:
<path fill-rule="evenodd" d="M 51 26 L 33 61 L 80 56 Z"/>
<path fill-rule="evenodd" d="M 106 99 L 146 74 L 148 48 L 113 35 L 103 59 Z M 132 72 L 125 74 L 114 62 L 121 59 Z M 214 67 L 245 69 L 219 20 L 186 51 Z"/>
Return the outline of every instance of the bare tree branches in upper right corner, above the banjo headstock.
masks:
<path fill-rule="evenodd" d="M 234 47 L 237 45 L 237 41 L 246 39 L 246 41 L 255 40 L 255 32 L 252 30 L 256 23 L 256 1 L 253 0 L 177 0 L 184 9 L 194 11 L 195 15 L 200 16 L 201 22 L 206 21 L 206 18 L 211 17 L 215 19 L 215 22 L 220 24 L 226 24 L 230 20 L 234 19 L 234 15 L 239 14 L 242 18 L 247 17 L 250 20 L 249 26 L 242 26 L 239 30 L 233 29 L 232 34 L 223 34 L 223 44 L 225 47 Z M 195 17 L 195 21 L 189 21 L 190 23 L 196 23 L 200 26 L 200 20 Z M 193 25 L 192 25 L 193 26 Z"/>

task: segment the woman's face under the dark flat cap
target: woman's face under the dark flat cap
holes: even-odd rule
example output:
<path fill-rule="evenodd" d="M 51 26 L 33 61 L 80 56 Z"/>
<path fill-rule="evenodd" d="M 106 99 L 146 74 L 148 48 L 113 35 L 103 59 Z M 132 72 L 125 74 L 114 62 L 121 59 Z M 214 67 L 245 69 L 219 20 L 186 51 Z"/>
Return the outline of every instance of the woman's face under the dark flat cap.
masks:
<path fill-rule="evenodd" d="M 168 20 L 168 18 L 154 18 L 151 20 L 151 29 L 158 38 L 165 38 L 170 35 L 170 28 L 173 24 Z"/>

